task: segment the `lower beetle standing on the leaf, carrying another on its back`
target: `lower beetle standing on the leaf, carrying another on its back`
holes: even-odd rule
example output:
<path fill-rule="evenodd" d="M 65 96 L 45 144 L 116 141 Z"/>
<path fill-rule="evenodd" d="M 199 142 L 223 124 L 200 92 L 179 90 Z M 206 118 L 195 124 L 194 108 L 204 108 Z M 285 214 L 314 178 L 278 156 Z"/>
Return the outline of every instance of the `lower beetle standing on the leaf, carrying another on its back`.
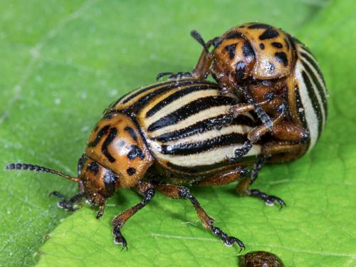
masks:
<path fill-rule="evenodd" d="M 195 79 L 168 80 L 133 90 L 112 103 L 93 128 L 85 152 L 78 161 L 78 177 L 33 164 L 11 163 L 6 169 L 49 172 L 78 183 L 78 194 L 66 199 L 59 192 L 63 209 L 74 210 L 80 199 L 98 206 L 103 216 L 105 199 L 117 189 L 132 188 L 143 200 L 115 216 L 115 244 L 127 247 L 122 226 L 162 192 L 172 199 L 189 199 L 203 226 L 224 244 L 244 244 L 214 226 L 214 219 L 201 207 L 186 186 L 217 186 L 240 181 L 236 191 L 263 199 L 266 204 L 285 205 L 278 197 L 249 189 L 261 169 L 268 145 L 244 147 L 248 132 L 258 118 L 244 112 L 232 116 L 229 108 L 239 103 L 235 95 L 221 95 L 216 83 Z M 272 156 L 273 157 L 273 156 Z"/>

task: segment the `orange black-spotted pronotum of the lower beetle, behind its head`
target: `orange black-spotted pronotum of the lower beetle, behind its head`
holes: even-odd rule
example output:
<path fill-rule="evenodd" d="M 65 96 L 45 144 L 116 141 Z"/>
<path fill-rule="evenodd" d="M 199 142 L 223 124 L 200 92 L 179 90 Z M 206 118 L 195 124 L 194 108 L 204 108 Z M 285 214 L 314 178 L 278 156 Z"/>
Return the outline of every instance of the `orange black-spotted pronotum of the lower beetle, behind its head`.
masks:
<path fill-rule="evenodd" d="M 153 162 L 135 122 L 120 112 L 108 113 L 95 125 L 85 155 L 115 174 L 115 189 L 135 186 Z"/>

